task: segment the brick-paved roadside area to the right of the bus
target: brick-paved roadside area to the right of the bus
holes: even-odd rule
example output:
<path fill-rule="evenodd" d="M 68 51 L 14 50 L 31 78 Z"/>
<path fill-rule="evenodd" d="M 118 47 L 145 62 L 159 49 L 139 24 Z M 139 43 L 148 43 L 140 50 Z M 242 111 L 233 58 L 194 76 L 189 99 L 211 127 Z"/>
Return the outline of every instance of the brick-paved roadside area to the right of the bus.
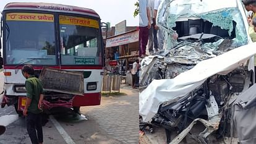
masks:
<path fill-rule="evenodd" d="M 103 98 L 100 108 L 85 108 L 108 135 L 124 143 L 139 143 L 139 91 L 126 90 L 127 96 Z"/>

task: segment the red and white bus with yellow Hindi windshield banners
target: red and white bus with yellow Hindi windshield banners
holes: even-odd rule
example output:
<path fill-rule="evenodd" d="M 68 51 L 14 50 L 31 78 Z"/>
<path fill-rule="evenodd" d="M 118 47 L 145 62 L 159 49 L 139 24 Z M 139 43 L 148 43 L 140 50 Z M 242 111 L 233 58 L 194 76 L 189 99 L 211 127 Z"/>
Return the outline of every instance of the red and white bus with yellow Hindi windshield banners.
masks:
<path fill-rule="evenodd" d="M 31 64 L 36 75 L 43 67 L 83 72 L 84 95 L 75 95 L 72 106 L 100 104 L 104 54 L 100 16 L 95 11 L 62 4 L 9 3 L 2 11 L 1 33 L 2 107 L 14 105 L 18 113 L 22 110 L 26 93 L 20 69 L 24 64 Z"/>

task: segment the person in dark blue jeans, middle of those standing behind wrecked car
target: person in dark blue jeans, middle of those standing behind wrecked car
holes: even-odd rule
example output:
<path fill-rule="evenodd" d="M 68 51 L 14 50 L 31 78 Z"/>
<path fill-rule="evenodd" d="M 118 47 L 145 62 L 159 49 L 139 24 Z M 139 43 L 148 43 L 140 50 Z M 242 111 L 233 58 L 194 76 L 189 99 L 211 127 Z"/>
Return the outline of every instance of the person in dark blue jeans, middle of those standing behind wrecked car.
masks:
<path fill-rule="evenodd" d="M 149 8 L 150 8 L 150 20 L 151 20 L 151 27 L 148 30 L 148 51 L 151 54 L 154 53 L 153 47 L 155 49 L 155 52 L 158 51 L 158 41 L 157 41 L 157 30 L 155 29 L 156 20 L 154 17 L 155 12 L 155 0 L 149 0 L 148 1 Z"/>

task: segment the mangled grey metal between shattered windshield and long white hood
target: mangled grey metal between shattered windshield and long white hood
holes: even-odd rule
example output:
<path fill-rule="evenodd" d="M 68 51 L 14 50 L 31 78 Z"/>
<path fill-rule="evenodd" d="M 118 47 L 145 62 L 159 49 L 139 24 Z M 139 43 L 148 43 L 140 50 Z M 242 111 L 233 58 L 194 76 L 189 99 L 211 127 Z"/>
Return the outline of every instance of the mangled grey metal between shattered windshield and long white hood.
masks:
<path fill-rule="evenodd" d="M 179 38 L 173 49 L 159 51 L 155 53 L 155 56 L 143 59 L 140 86 L 147 87 L 155 79 L 174 78 L 182 72 L 192 69 L 200 61 L 216 57 L 224 51 L 233 49 L 232 40 L 219 37 L 204 33 L 184 36 Z M 226 47 L 223 48 L 224 46 Z M 239 76 L 237 75 L 237 77 Z"/>

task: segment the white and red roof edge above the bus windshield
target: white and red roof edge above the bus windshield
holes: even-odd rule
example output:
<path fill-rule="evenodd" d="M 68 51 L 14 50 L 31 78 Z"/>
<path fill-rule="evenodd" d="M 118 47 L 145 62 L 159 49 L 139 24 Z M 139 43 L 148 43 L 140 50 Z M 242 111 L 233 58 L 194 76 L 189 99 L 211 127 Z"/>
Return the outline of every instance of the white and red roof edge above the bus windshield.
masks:
<path fill-rule="evenodd" d="M 77 6 L 67 6 L 64 4 L 52 4 L 44 2 L 11 2 L 6 4 L 5 10 L 34 10 L 34 11 L 49 11 L 49 12 L 65 12 L 71 14 L 91 15 L 93 17 L 100 16 L 92 9 L 87 9 Z"/>

